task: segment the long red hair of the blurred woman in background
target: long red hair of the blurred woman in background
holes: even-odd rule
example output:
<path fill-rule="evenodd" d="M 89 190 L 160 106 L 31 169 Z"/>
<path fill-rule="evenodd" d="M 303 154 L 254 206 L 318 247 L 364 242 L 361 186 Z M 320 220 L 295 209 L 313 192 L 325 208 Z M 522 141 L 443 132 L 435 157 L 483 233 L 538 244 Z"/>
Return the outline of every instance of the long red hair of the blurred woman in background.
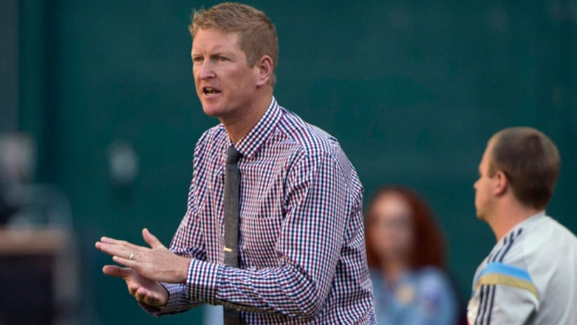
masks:
<path fill-rule="evenodd" d="M 372 225 L 375 216 L 372 213 L 375 202 L 382 198 L 383 195 L 394 193 L 400 195 L 405 200 L 411 212 L 413 231 L 415 235 L 415 247 L 412 247 L 409 258 L 410 267 L 414 269 L 425 266 L 436 266 L 445 268 L 445 244 L 443 235 L 440 233 L 433 211 L 426 202 L 414 191 L 402 186 L 386 186 L 380 188 L 370 199 L 367 207 L 365 219 L 365 231 L 367 232 Z M 373 250 L 373 242 L 370 236 L 366 236 L 367 261 L 370 268 L 381 268 L 381 261 L 377 258 Z"/>

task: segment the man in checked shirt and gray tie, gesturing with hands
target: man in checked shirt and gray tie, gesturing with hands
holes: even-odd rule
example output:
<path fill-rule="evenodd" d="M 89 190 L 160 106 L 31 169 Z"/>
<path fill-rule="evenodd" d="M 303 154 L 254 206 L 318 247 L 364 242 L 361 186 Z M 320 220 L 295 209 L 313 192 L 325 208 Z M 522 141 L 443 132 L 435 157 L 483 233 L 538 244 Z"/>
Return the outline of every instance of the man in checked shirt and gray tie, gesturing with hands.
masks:
<path fill-rule="evenodd" d="M 197 95 L 221 124 L 197 142 L 170 249 L 146 229 L 151 249 L 103 237 L 126 266 L 104 273 L 153 314 L 209 303 L 225 324 L 375 324 L 359 177 L 336 139 L 274 99 L 274 26 L 225 3 L 190 33 Z"/>

